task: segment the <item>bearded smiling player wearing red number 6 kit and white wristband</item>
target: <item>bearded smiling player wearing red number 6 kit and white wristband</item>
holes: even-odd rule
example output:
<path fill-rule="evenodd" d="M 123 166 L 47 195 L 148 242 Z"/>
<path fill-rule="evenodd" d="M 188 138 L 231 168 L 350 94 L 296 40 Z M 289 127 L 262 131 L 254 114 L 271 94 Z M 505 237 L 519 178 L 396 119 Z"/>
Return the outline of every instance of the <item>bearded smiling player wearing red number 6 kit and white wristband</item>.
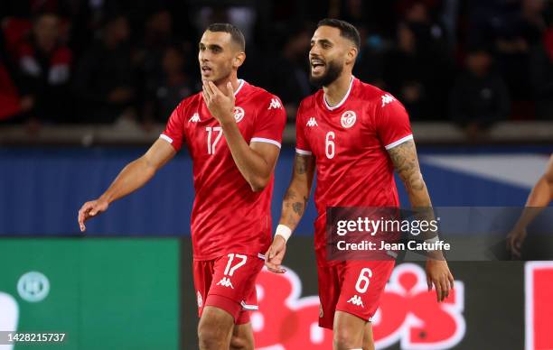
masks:
<path fill-rule="evenodd" d="M 267 268 L 284 272 L 280 264 L 286 240 L 304 213 L 316 169 L 319 326 L 333 329 L 335 349 L 373 348 L 370 319 L 395 262 L 328 260 L 326 208 L 398 207 L 394 170 L 412 207 L 431 207 L 405 108 L 389 93 L 351 75 L 359 48 L 359 32 L 350 23 L 318 23 L 309 60 L 311 80 L 323 89 L 299 106 L 293 177 L 266 253 Z M 454 281 L 445 260 L 428 259 L 426 273 L 428 287 L 436 286 L 438 301 L 445 299 Z"/>

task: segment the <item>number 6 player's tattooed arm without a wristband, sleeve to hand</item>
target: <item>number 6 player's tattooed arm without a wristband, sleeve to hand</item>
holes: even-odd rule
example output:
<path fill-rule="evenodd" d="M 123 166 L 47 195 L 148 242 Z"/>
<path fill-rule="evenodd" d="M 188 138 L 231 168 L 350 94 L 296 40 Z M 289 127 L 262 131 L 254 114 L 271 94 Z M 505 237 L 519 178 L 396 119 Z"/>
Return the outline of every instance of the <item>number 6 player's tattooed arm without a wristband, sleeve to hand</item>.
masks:
<path fill-rule="evenodd" d="M 425 180 L 420 172 L 415 143 L 409 140 L 389 149 L 388 152 L 396 171 L 398 171 L 399 178 L 408 192 L 411 207 L 432 207 Z M 426 260 L 426 282 L 428 290 L 432 289 L 432 284 L 436 287 L 438 302 L 447 298 L 449 290 L 453 289 L 454 277 L 449 271 L 445 259 L 428 258 Z"/>

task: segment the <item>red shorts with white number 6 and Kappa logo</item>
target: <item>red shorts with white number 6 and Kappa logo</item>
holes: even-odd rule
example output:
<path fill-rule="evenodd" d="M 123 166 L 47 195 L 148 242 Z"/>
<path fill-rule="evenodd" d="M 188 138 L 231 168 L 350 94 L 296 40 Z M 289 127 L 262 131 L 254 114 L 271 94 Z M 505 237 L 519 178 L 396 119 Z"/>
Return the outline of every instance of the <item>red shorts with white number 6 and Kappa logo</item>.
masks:
<path fill-rule="evenodd" d="M 395 261 L 346 261 L 318 266 L 319 326 L 333 329 L 334 312 L 347 312 L 370 321 L 379 307 Z"/>

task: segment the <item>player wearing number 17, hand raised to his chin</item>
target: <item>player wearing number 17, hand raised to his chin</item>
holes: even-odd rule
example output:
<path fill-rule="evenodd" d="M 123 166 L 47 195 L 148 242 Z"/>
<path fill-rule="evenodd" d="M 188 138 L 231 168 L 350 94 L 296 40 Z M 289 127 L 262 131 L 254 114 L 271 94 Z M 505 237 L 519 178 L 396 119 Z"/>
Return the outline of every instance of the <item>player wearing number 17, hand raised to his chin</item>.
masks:
<path fill-rule="evenodd" d="M 273 170 L 286 113 L 275 95 L 237 78 L 244 36 L 227 23 L 203 33 L 203 91 L 185 98 L 145 154 L 79 211 L 79 224 L 142 187 L 186 144 L 193 164 L 193 274 L 201 349 L 253 349 L 249 311 L 271 242 Z"/>

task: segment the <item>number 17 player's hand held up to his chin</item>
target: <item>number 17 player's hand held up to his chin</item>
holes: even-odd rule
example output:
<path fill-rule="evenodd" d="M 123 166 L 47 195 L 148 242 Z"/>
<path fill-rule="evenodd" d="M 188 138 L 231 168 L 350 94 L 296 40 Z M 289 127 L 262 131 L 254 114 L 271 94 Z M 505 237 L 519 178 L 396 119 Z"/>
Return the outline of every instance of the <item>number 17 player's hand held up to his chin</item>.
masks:
<path fill-rule="evenodd" d="M 223 92 L 212 81 L 203 81 L 203 100 L 219 124 L 236 123 L 234 120 L 234 89 L 230 82 Z"/>

